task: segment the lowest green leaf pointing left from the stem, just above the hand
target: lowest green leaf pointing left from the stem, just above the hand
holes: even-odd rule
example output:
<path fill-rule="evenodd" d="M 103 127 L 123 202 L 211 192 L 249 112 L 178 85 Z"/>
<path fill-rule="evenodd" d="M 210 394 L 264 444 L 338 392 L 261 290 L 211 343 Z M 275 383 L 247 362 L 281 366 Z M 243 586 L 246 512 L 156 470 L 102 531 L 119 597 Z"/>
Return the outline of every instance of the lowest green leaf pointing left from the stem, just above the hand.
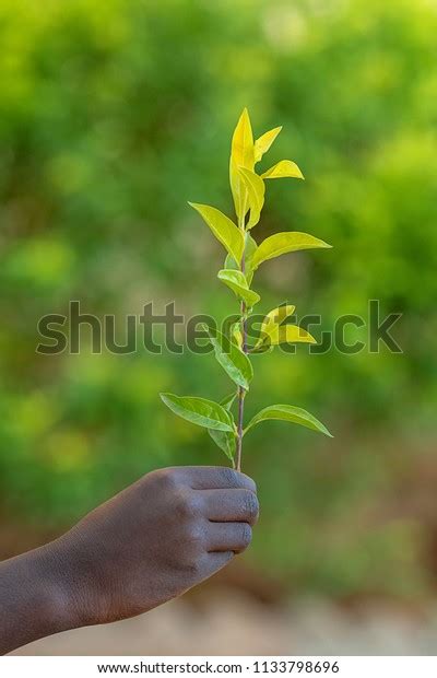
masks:
<path fill-rule="evenodd" d="M 218 402 L 191 396 L 175 396 L 174 394 L 160 394 L 160 396 L 175 414 L 198 426 L 217 431 L 234 431 L 229 412 Z"/>

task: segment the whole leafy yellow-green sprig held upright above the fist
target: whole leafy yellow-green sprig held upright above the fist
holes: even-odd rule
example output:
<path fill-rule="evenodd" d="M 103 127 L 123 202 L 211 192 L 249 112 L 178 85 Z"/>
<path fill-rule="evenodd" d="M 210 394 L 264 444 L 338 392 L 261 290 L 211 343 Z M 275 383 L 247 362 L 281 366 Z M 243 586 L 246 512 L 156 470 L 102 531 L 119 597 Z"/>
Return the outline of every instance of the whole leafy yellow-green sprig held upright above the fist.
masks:
<path fill-rule="evenodd" d="M 269 259 L 298 249 L 330 247 L 323 241 L 307 233 L 276 233 L 257 245 L 250 232 L 258 224 L 264 203 L 265 182 L 277 178 L 303 179 L 304 176 L 291 160 L 279 163 L 257 174 L 255 166 L 270 149 L 281 131 L 281 127 L 265 132 L 253 141 L 250 118 L 245 108 L 235 128 L 231 148 L 229 180 L 234 198 L 237 223 L 220 210 L 208 204 L 189 204 L 199 212 L 217 241 L 227 252 L 224 268 L 217 278 L 227 285 L 239 300 L 239 320 L 232 327 L 231 336 L 217 329 L 205 327 L 214 348 L 215 358 L 234 383 L 235 390 L 221 402 L 161 394 L 162 400 L 176 414 L 199 426 L 208 429 L 216 445 L 226 454 L 234 468 L 241 468 L 243 437 L 261 421 L 280 419 L 307 426 L 331 436 L 323 424 L 306 410 L 291 405 L 271 405 L 256 414 L 244 425 L 245 399 L 253 377 L 249 355 L 264 353 L 281 343 L 315 343 L 314 337 L 296 325 L 286 324 L 295 306 L 281 305 L 265 315 L 261 324 L 258 341 L 249 346 L 247 322 L 252 308 L 260 301 L 258 292 L 252 290 L 253 273 Z M 232 406 L 236 401 L 237 421 Z"/>

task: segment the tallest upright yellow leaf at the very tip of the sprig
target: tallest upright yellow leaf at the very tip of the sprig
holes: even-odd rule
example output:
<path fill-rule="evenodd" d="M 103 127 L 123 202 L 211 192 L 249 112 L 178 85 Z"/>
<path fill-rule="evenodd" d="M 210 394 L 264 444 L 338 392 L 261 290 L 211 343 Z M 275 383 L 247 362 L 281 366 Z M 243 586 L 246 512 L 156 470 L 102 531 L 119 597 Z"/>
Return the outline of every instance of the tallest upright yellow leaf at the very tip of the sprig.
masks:
<path fill-rule="evenodd" d="M 229 182 L 234 198 L 235 211 L 239 221 L 248 210 L 247 189 L 238 172 L 238 167 L 253 171 L 255 167 L 253 135 L 247 108 L 241 113 L 231 144 Z"/>

